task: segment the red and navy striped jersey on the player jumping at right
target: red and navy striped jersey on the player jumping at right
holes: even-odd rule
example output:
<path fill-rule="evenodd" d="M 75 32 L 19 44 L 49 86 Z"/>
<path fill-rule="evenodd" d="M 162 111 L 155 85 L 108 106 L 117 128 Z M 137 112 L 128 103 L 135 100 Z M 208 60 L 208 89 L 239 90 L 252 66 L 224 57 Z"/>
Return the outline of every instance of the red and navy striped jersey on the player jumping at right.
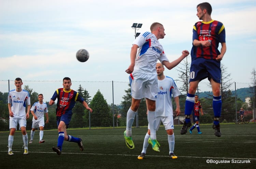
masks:
<path fill-rule="evenodd" d="M 191 59 L 194 60 L 197 57 L 203 57 L 205 59 L 215 59 L 221 52 L 218 50 L 219 43 L 226 42 L 225 28 L 222 22 L 211 20 L 209 22 L 199 21 L 195 23 L 193 29 L 193 41 L 197 39 L 199 41 L 208 40 L 211 42 L 211 46 L 194 46 L 191 49 Z"/>

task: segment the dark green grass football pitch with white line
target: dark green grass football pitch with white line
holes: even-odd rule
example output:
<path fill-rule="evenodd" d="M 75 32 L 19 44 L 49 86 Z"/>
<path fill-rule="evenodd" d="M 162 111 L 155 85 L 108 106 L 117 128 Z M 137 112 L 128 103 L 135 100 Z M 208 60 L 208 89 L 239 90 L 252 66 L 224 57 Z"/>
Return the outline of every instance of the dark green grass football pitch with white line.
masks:
<path fill-rule="evenodd" d="M 39 132 L 29 144 L 29 154 L 23 155 L 22 134 L 14 136 L 14 155 L 7 155 L 9 133 L 0 133 L 1 169 L 254 169 L 256 168 L 256 124 L 223 124 L 222 136 L 214 136 L 211 125 L 200 125 L 203 134 L 180 134 L 181 126 L 175 126 L 175 155 L 169 158 L 167 134 L 163 127 L 157 132 L 161 144 L 160 152 L 148 147 L 143 160 L 138 160 L 147 128 L 133 128 L 132 137 L 135 149 L 125 145 L 125 128 L 68 130 L 68 134 L 83 139 L 84 151 L 77 143 L 63 143 L 61 155 L 52 151 L 57 144 L 57 131 L 44 131 L 45 143 L 39 144 Z M 30 139 L 30 132 L 28 131 Z M 212 163 L 207 163 L 207 160 Z M 230 162 L 228 162 L 228 160 Z M 250 162 L 250 163 L 234 163 Z M 226 162 L 226 163 L 224 163 Z M 218 163 L 218 164 L 216 164 Z"/>

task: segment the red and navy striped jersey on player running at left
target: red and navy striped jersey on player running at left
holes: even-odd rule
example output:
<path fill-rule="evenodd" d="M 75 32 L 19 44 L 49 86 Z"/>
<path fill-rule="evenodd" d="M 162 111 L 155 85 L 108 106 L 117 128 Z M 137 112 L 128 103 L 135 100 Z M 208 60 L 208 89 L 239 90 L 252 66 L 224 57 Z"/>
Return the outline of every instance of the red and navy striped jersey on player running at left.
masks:
<path fill-rule="evenodd" d="M 84 101 L 78 92 L 72 89 L 69 91 L 65 91 L 63 88 L 57 89 L 51 99 L 55 101 L 57 98 L 56 116 L 61 116 L 62 114 L 72 114 L 72 108 L 75 106 L 75 102 L 79 101 L 82 103 Z"/>

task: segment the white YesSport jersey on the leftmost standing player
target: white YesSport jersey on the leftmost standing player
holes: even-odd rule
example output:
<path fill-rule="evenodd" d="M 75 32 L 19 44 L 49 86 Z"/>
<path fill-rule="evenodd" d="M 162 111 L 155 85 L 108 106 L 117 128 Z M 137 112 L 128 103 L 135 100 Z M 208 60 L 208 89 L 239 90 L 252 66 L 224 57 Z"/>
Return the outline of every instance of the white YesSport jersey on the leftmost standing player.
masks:
<path fill-rule="evenodd" d="M 26 119 L 26 104 L 30 105 L 30 95 L 27 90 L 17 92 L 16 89 L 9 91 L 8 103 L 11 104 L 13 118 Z"/>

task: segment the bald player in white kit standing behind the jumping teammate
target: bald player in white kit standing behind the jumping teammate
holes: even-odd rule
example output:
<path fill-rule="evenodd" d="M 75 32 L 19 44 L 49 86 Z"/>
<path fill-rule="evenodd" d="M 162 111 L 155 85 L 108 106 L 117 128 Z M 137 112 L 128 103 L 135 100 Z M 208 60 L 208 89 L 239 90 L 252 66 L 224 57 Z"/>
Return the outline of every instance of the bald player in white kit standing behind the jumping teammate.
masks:
<path fill-rule="evenodd" d="M 173 108 L 172 108 L 172 97 L 176 104 L 176 116 L 181 113 L 179 96 L 181 95 L 179 89 L 177 88 L 174 80 L 163 74 L 165 68 L 161 63 L 156 64 L 156 72 L 158 78 L 158 95 L 156 100 L 156 131 L 158 130 L 161 122 L 165 126 L 165 130 L 168 136 L 169 143 L 169 156 L 172 159 L 177 158 L 174 155 L 174 124 L 173 124 Z M 148 139 L 150 139 L 150 125 L 148 125 L 148 131 L 145 135 L 143 142 L 143 150 L 138 156 L 138 159 L 143 159 L 148 147 Z M 159 144 L 159 143 L 158 143 Z"/>

